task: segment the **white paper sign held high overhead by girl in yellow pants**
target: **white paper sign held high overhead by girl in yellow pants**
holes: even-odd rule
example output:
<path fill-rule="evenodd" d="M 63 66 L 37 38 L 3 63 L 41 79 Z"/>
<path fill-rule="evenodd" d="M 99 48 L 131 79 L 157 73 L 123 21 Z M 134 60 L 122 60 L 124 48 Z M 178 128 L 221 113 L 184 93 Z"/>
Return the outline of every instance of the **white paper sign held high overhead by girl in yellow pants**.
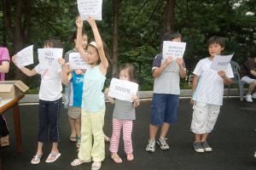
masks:
<path fill-rule="evenodd" d="M 102 0 L 78 0 L 78 8 L 82 20 L 102 20 Z"/>

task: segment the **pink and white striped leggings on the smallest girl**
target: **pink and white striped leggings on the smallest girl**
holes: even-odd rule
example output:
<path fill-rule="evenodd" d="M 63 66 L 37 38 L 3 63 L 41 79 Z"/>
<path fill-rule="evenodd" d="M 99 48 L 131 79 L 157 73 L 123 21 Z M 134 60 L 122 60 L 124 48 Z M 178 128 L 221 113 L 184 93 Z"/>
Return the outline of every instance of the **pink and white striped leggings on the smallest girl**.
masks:
<path fill-rule="evenodd" d="M 119 138 L 120 131 L 123 127 L 123 139 L 125 145 L 125 153 L 132 153 L 132 141 L 131 141 L 131 132 L 132 132 L 132 121 L 131 120 L 118 120 L 113 118 L 113 133 L 110 141 L 109 150 L 112 153 L 117 153 L 119 150 Z"/>

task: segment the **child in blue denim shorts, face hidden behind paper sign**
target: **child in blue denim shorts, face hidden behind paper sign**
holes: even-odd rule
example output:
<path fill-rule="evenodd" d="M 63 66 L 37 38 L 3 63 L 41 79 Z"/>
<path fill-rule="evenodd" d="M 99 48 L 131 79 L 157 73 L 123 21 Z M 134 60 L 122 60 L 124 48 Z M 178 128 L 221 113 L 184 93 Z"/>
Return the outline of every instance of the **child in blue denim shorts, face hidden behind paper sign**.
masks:
<path fill-rule="evenodd" d="M 181 35 L 178 32 L 166 34 L 164 41 L 181 42 Z M 170 124 L 177 123 L 177 108 L 179 103 L 179 81 L 186 77 L 186 68 L 180 56 L 172 59 L 172 56 L 163 59 L 163 54 L 157 54 L 154 58 L 152 73 L 154 77 L 154 94 L 150 111 L 149 140 L 146 150 L 154 152 L 155 135 L 161 127 L 160 138 L 157 144 L 161 150 L 168 150 L 166 134 Z"/>

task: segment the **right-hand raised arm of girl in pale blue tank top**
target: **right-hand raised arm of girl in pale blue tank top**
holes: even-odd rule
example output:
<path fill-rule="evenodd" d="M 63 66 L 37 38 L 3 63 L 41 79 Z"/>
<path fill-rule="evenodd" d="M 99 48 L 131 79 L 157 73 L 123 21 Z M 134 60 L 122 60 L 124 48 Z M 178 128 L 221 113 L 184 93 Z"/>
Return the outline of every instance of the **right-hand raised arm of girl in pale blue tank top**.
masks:
<path fill-rule="evenodd" d="M 93 19 L 93 18 L 89 18 L 88 20 L 88 23 L 90 24 L 90 27 L 93 31 L 93 35 L 94 35 L 94 38 L 95 38 L 95 41 L 96 41 L 96 45 L 97 45 L 97 48 L 98 48 L 98 52 L 99 52 L 99 55 L 100 55 L 100 59 L 101 59 L 101 64 L 100 64 L 100 68 L 101 68 L 101 71 L 102 73 L 104 73 L 104 75 L 106 75 L 107 73 L 107 69 L 108 69 L 108 59 L 105 55 L 105 52 L 104 52 L 104 48 L 103 48 L 103 42 L 102 42 L 102 37 L 98 31 L 98 28 L 96 26 L 96 21 Z"/>

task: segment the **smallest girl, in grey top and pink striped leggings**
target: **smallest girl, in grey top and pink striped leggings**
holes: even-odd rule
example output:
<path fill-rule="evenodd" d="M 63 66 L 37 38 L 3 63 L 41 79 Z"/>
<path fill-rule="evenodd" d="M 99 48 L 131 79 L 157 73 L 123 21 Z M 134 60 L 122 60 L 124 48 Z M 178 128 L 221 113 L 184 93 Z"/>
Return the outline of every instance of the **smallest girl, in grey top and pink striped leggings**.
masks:
<path fill-rule="evenodd" d="M 126 80 L 131 82 L 136 82 L 136 76 L 133 65 L 125 64 L 120 68 L 119 73 L 120 80 Z M 106 89 L 106 94 L 108 95 L 108 89 Z M 132 161 L 134 156 L 132 154 L 132 141 L 131 132 L 133 120 L 135 120 L 135 107 L 139 105 L 139 99 L 137 95 L 134 94 L 131 97 L 131 101 L 124 101 L 120 99 L 113 99 L 108 96 L 110 103 L 114 104 L 113 109 L 113 133 L 110 140 L 109 150 L 111 151 L 111 158 L 116 163 L 121 163 L 122 159 L 118 155 L 119 150 L 119 138 L 120 130 L 123 127 L 123 139 L 125 145 L 125 153 L 127 155 L 127 160 Z"/>

